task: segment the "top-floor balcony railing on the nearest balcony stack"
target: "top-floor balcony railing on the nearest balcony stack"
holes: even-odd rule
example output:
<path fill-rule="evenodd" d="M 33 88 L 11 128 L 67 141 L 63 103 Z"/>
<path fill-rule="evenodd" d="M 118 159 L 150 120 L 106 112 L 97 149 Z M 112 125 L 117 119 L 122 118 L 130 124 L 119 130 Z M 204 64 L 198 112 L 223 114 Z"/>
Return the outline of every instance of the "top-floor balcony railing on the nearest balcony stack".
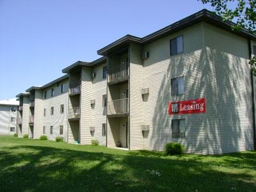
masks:
<path fill-rule="evenodd" d="M 124 63 L 116 67 L 109 68 L 108 70 L 108 81 L 115 81 L 118 79 L 123 79 L 129 76 L 128 64 Z"/>

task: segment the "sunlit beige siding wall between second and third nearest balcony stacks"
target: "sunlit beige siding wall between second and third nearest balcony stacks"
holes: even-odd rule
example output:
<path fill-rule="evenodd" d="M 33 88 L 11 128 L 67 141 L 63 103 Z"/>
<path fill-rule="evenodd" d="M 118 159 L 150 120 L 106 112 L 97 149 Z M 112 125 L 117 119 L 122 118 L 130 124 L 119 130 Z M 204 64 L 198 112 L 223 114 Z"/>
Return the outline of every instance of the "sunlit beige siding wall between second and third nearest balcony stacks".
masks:
<path fill-rule="evenodd" d="M 61 84 L 65 84 L 65 92 L 61 93 Z M 40 109 L 40 114 L 44 118 L 44 123 L 40 125 L 40 135 L 43 134 L 45 126 L 45 135 L 49 140 L 55 140 L 56 136 L 62 136 L 65 141 L 68 137 L 68 84 L 69 81 L 61 81 L 58 86 L 54 85 L 47 88 L 47 99 L 44 99 L 44 106 Z M 51 97 L 51 88 L 54 88 L 55 95 Z M 44 90 L 45 92 L 45 90 Z M 43 92 L 43 93 L 44 93 Z M 60 113 L 60 106 L 64 105 L 64 113 Z M 54 113 L 51 115 L 51 107 L 54 107 Z M 46 109 L 46 116 L 44 116 Z M 52 125 L 52 134 L 50 127 Z M 63 125 L 63 134 L 60 135 L 60 125 Z"/>

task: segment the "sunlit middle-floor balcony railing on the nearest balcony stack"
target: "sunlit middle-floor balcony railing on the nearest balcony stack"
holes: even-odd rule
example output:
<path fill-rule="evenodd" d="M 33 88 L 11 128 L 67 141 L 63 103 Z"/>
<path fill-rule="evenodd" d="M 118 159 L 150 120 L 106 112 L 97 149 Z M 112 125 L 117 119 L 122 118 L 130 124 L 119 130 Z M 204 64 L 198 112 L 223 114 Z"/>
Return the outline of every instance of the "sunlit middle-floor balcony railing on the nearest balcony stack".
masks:
<path fill-rule="evenodd" d="M 108 102 L 108 115 L 129 113 L 129 98 Z"/>

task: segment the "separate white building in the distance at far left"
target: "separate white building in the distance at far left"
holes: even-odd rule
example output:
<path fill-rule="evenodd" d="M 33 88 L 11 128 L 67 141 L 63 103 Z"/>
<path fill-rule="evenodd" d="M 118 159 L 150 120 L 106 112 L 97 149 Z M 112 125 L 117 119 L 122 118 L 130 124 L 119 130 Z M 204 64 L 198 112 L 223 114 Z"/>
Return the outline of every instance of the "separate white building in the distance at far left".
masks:
<path fill-rule="evenodd" d="M 14 134 L 17 124 L 16 99 L 0 100 L 0 134 Z"/>

